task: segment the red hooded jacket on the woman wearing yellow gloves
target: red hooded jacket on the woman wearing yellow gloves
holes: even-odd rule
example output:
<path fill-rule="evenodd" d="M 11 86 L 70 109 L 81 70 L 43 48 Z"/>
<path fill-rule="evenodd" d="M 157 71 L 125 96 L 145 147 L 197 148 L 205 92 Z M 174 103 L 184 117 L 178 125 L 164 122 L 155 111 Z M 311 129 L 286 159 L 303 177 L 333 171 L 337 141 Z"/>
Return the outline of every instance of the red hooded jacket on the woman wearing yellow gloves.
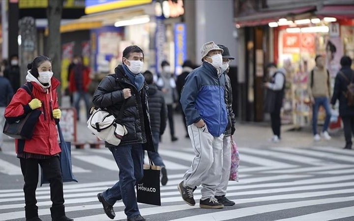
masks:
<path fill-rule="evenodd" d="M 42 102 L 42 107 L 38 108 L 42 114 L 34 127 L 32 138 L 28 140 L 15 139 L 16 153 L 18 149 L 23 149 L 27 153 L 55 155 L 60 153 L 61 149 L 58 144 L 58 131 L 52 111 L 59 107 L 56 89 L 60 83 L 52 77 L 51 87 L 46 92 L 37 83 L 31 83 L 33 85 L 32 95 Z M 19 88 L 5 109 L 5 118 L 16 118 L 31 111 L 29 108 L 31 100 L 31 95 L 25 89 Z"/>

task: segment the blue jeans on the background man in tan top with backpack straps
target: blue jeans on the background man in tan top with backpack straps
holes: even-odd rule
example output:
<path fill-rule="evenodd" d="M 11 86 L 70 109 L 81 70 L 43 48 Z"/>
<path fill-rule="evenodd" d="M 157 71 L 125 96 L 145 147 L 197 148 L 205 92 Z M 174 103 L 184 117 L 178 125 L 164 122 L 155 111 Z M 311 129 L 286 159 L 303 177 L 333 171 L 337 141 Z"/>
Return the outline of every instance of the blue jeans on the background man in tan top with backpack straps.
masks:
<path fill-rule="evenodd" d="M 329 126 L 329 120 L 331 117 L 331 110 L 329 108 L 329 100 L 327 97 L 316 97 L 315 98 L 315 104 L 313 105 L 313 110 L 312 110 L 312 131 L 313 134 L 316 135 L 317 133 L 317 118 L 318 118 L 318 110 L 320 108 L 320 105 L 324 107 L 324 110 L 326 111 L 326 117 L 324 119 L 324 127 L 322 131 L 326 131 Z"/>

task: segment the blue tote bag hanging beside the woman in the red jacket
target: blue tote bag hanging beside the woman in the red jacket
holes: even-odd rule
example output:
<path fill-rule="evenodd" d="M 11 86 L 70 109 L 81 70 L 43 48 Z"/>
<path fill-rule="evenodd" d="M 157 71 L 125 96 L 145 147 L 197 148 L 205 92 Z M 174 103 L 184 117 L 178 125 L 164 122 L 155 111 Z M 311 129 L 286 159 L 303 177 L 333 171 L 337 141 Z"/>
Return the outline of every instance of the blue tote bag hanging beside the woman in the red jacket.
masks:
<path fill-rule="evenodd" d="M 59 138 L 60 138 L 59 146 L 61 148 L 60 167 L 61 167 L 62 180 L 63 182 L 78 182 L 72 172 L 71 143 L 65 142 L 59 123 L 57 126 L 58 126 Z M 43 169 L 41 168 L 41 186 L 44 183 L 49 183 L 49 180 L 44 176 Z"/>

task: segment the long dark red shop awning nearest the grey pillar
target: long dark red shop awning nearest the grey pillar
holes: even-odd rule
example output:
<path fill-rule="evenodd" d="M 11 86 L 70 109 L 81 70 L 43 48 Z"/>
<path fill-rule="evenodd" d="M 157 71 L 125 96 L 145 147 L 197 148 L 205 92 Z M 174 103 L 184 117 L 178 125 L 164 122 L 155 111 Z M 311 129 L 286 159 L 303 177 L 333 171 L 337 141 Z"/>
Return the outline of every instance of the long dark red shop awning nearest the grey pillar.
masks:
<path fill-rule="evenodd" d="M 241 27 L 266 25 L 269 22 L 277 21 L 287 16 L 295 16 L 316 10 L 316 6 L 304 6 L 292 9 L 278 9 L 268 11 L 257 11 L 252 15 L 239 16 L 235 18 L 236 24 Z"/>

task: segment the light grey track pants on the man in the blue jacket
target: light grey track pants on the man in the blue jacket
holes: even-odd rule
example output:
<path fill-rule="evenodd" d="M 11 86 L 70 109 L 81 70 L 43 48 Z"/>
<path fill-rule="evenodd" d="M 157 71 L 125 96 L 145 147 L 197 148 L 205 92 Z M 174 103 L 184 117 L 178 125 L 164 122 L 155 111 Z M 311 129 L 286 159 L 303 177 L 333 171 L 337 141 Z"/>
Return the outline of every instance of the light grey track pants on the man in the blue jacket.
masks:
<path fill-rule="evenodd" d="M 215 195 L 216 187 L 220 184 L 222 171 L 223 137 L 213 137 L 207 126 L 198 128 L 194 124 L 188 126 L 195 157 L 192 166 L 184 174 L 184 186 L 194 188 L 202 185 L 202 198 Z"/>

